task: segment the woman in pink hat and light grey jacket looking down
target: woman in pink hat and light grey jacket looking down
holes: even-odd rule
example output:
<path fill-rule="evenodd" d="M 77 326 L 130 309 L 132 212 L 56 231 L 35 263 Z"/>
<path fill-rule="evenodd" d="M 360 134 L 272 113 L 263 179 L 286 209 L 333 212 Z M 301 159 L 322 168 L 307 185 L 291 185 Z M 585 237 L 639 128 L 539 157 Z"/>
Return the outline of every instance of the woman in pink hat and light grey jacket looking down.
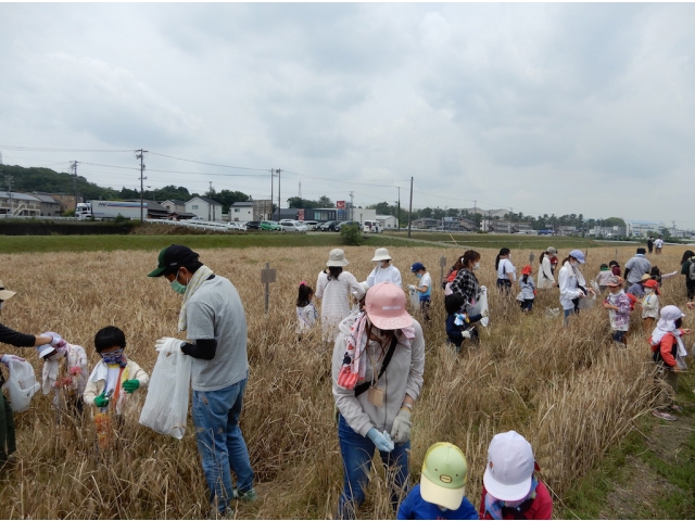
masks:
<path fill-rule="evenodd" d="M 333 348 L 333 398 L 344 486 L 340 519 L 353 519 L 365 500 L 375 448 L 389 469 L 394 509 L 407 493 L 410 410 L 422 389 L 422 328 L 407 313 L 403 290 L 380 282 L 364 310 L 345 318 Z"/>

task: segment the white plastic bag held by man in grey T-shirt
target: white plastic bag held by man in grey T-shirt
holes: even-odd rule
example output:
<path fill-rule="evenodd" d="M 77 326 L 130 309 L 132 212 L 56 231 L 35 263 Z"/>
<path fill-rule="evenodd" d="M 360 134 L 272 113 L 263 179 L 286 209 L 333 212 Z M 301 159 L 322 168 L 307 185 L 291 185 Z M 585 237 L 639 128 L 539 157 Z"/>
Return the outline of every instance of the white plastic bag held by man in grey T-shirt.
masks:
<path fill-rule="evenodd" d="M 178 346 L 181 341 L 172 339 Z M 152 370 L 140 423 L 178 440 L 186 433 L 191 381 L 191 358 L 180 350 L 162 350 Z"/>

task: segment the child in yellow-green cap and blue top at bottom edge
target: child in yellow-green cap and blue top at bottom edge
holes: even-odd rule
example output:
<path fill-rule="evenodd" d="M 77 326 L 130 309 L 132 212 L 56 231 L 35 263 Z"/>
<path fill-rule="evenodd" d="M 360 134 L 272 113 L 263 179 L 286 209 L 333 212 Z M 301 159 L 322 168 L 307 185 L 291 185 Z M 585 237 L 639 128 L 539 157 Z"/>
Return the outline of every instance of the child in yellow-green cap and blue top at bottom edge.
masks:
<path fill-rule="evenodd" d="M 396 519 L 478 519 L 465 497 L 468 463 L 460 448 L 435 443 L 427 449 L 420 484 L 399 508 Z"/>

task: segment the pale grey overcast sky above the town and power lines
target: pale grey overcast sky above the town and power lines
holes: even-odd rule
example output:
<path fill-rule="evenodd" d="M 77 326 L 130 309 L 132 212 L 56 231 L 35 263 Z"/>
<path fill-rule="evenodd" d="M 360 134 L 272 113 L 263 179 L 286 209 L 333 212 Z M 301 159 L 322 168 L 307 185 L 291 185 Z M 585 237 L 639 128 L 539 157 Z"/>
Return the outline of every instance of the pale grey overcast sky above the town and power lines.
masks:
<path fill-rule="evenodd" d="M 118 189 L 139 171 L 97 165 L 143 148 L 152 188 L 267 199 L 282 168 L 283 201 L 407 207 L 413 176 L 414 207 L 695 228 L 694 27 L 693 3 L 0 3 L 0 152 Z"/>

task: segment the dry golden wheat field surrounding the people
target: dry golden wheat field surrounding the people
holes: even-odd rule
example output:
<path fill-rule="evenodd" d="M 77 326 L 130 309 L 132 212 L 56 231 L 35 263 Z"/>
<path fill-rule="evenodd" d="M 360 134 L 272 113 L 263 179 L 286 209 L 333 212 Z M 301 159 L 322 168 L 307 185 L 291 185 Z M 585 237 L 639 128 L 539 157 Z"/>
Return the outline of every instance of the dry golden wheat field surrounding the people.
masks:
<path fill-rule="evenodd" d="M 365 280 L 374 250 L 345 247 L 346 269 Z M 662 272 L 680 270 L 684 246 L 667 246 L 650 256 Z M 634 246 L 619 251 L 621 265 Z M 251 373 L 241 427 L 256 472 L 260 500 L 240 504 L 239 518 L 331 518 L 342 486 L 341 458 L 333 420 L 330 357 L 332 346 L 309 335 L 300 345 L 294 334 L 296 285 L 315 287 L 328 249 L 203 250 L 201 260 L 229 278 L 239 290 L 249 323 Z M 413 412 L 410 474 L 416 481 L 427 447 L 447 441 L 462 447 L 469 463 L 467 496 L 478 506 L 494 433 L 515 429 L 532 443 L 542 479 L 556 505 L 577 479 L 621 439 L 654 399 L 650 352 L 635 326 L 628 350 L 609 341 L 607 312 L 597 305 L 567 329 L 557 290 L 539 291 L 531 315 L 494 288 L 496 251 L 482 250 L 477 272 L 490 289 L 491 326 L 481 330 L 477 348 L 456 355 L 446 346 L 439 258 L 453 264 L 463 250 L 392 247 L 404 285 L 415 283 L 408 271 L 422 262 L 432 275 L 432 323 L 427 342 L 424 393 Z M 513 251 L 520 270 L 530 251 Z M 564 257 L 567 252 L 560 252 Z M 538 269 L 538 256 L 534 275 Z M 180 296 L 163 279 L 148 279 L 157 251 L 0 255 L 0 278 L 17 295 L 3 308 L 0 321 L 13 329 L 58 331 L 85 346 L 90 369 L 98 361 L 92 339 L 108 325 L 122 328 L 126 354 L 151 372 L 154 341 L 176 336 Z M 583 271 L 593 278 L 615 247 L 592 249 Z M 658 262 L 655 262 L 658 259 Z M 277 268 L 270 287 L 270 312 L 264 314 L 261 269 Z M 514 292 L 516 294 L 516 291 Z M 665 281 L 661 304 L 685 303 L 683 277 Z M 317 302 L 317 307 L 318 306 Z M 416 315 L 417 318 L 417 315 Z M 40 377 L 36 353 L 2 346 L 27 357 Z M 132 519 L 201 518 L 208 512 L 207 490 L 198 460 L 192 423 L 182 441 L 165 437 L 130 418 L 116 452 L 98 456 L 89 415 L 81 427 L 63 421 L 42 394 L 31 408 L 15 415 L 20 463 L 2 478 L 0 518 Z M 380 466 L 377 466 L 378 469 Z M 374 471 L 362 518 L 392 518 L 388 494 Z"/>

